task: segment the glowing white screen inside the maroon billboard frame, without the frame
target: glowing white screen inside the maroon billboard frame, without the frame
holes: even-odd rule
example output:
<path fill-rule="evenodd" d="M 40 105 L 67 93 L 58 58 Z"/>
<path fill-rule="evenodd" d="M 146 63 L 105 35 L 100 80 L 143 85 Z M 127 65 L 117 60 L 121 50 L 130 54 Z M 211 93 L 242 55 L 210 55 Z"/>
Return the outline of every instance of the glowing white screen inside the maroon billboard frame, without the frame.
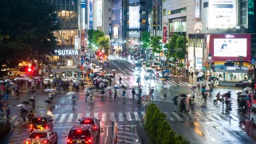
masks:
<path fill-rule="evenodd" d="M 214 39 L 214 56 L 247 56 L 247 39 Z"/>

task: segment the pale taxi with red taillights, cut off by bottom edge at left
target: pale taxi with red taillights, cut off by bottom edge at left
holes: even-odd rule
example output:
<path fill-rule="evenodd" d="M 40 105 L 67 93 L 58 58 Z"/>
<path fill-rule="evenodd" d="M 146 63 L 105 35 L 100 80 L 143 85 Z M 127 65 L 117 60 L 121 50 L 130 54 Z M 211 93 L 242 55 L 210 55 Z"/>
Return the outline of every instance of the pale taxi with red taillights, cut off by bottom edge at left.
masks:
<path fill-rule="evenodd" d="M 51 129 L 36 129 L 28 136 L 25 144 L 57 143 L 58 134 Z"/>

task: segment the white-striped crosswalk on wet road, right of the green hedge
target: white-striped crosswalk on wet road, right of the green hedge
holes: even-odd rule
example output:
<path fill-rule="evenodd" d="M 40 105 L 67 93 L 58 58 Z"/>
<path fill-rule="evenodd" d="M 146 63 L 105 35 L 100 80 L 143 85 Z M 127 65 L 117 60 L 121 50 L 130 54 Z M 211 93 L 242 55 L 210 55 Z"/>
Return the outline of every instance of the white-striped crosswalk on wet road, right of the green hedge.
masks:
<path fill-rule="evenodd" d="M 143 113 L 143 112 L 142 112 Z M 199 113 L 199 112 L 191 112 L 191 113 L 180 113 L 180 112 L 164 112 L 166 114 L 166 118 L 170 121 L 176 122 L 185 122 L 185 121 L 249 121 L 248 115 L 236 115 L 234 113 L 223 114 L 217 112 L 211 113 Z"/>

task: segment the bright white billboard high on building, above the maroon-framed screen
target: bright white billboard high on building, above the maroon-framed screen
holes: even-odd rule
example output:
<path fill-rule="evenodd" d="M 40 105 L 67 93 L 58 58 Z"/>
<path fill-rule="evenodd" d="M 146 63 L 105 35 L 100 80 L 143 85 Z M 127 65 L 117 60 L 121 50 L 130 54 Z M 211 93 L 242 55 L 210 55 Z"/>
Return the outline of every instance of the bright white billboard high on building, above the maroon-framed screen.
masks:
<path fill-rule="evenodd" d="M 209 17 L 212 28 L 236 26 L 236 0 L 209 1 Z"/>

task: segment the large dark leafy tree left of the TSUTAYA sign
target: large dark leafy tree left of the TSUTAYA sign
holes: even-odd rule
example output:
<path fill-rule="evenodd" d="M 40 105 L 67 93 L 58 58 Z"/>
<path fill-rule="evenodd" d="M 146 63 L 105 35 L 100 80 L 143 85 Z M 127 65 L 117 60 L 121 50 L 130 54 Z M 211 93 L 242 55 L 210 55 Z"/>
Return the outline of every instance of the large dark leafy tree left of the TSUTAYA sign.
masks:
<path fill-rule="evenodd" d="M 14 68 L 32 58 L 46 63 L 45 55 L 52 55 L 57 44 L 54 32 L 60 29 L 54 5 L 50 1 L 3 0 L 0 8 L 0 68 Z"/>

